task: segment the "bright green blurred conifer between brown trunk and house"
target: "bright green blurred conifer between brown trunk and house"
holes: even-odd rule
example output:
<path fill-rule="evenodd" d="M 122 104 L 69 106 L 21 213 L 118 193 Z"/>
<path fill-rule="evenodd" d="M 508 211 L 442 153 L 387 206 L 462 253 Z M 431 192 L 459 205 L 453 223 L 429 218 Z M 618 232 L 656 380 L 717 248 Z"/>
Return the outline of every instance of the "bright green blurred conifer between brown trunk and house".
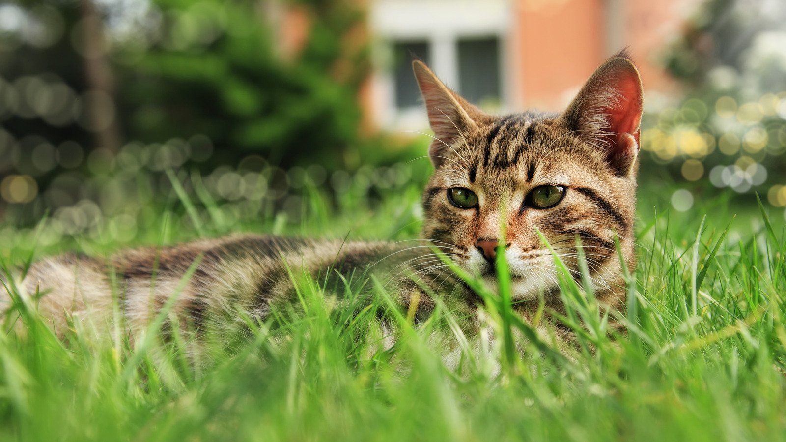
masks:
<path fill-rule="evenodd" d="M 343 1 L 291 3 L 307 35 L 296 53 L 281 54 L 276 39 L 287 30 L 275 29 L 259 2 L 156 0 L 158 38 L 119 51 L 127 137 L 201 133 L 221 163 L 258 153 L 286 166 L 343 166 L 343 152 L 358 142 L 357 96 L 369 72 L 365 42 L 343 38 L 364 16 Z M 352 68 L 337 72 L 342 64 Z"/>

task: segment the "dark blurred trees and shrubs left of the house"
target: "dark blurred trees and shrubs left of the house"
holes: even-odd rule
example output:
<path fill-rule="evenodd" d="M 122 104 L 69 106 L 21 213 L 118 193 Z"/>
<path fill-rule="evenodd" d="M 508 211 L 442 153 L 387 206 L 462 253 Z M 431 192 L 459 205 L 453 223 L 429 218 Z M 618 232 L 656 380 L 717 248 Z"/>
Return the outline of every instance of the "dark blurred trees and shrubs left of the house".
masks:
<path fill-rule="evenodd" d="M 363 132 L 358 2 L 46 0 L 0 17 L 0 215 L 16 225 L 50 212 L 75 233 L 101 225 L 92 208 L 141 221 L 171 196 L 167 169 L 208 183 L 233 171 L 204 193 L 219 203 L 248 199 L 226 190 L 235 178 L 262 177 L 283 210 L 305 170 L 336 193 L 341 177 L 373 175 L 361 187 L 374 197 L 384 171 L 367 172 L 425 152 Z M 78 207 L 93 219 L 72 223 Z"/>

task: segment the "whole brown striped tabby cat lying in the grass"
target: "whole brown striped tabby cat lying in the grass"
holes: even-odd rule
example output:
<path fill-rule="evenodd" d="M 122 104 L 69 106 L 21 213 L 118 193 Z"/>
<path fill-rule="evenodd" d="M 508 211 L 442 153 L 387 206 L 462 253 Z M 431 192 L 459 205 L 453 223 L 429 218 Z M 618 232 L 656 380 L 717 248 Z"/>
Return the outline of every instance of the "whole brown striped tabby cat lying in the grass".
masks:
<path fill-rule="evenodd" d="M 483 301 L 434 250 L 491 290 L 497 288 L 496 257 L 504 253 L 512 299 L 536 301 L 516 302 L 527 319 L 541 302 L 547 310 L 563 308 L 556 265 L 539 231 L 576 278 L 579 238 L 601 305 L 622 309 L 626 290 L 615 235 L 626 265 L 634 266 L 642 111 L 641 81 L 629 57 L 621 53 L 602 64 L 561 115 L 490 115 L 448 89 L 421 61 L 413 68 L 435 132 L 428 150 L 435 171 L 423 193 L 419 243 L 244 234 L 133 249 L 108 259 L 53 257 L 35 263 L 24 280 L 4 284 L 14 283 L 61 336 L 74 316 L 111 328 L 119 305 L 133 339 L 170 299 L 167 308 L 179 324 L 164 329 L 220 336 L 244 326 L 242 316 L 265 320 L 276 305 L 292 304 L 292 273 L 298 271 L 356 289 L 368 289 L 373 276 L 403 311 L 415 311 L 416 321 L 428 318 L 438 297 L 472 317 Z M 0 300 L 9 301 L 2 287 Z M 13 320 L 12 313 L 6 320 Z M 569 339 L 566 327 L 555 330 Z"/>

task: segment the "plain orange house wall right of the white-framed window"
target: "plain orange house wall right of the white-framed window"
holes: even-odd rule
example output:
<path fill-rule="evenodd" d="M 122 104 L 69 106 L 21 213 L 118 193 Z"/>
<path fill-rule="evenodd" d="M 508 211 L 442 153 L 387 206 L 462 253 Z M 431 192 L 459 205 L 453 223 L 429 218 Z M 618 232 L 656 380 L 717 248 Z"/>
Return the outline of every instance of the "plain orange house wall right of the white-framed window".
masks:
<path fill-rule="evenodd" d="M 660 65 L 702 0 L 625 0 L 623 41 L 645 90 L 678 92 Z M 561 110 L 608 53 L 608 0 L 517 0 L 508 53 L 513 110 Z"/>

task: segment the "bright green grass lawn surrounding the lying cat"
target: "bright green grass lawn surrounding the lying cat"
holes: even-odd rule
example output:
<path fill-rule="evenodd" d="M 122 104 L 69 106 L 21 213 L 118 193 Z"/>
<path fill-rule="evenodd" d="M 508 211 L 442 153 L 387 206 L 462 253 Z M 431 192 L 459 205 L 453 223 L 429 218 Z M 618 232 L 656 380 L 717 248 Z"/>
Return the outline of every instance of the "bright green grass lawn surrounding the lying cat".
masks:
<path fill-rule="evenodd" d="M 230 223 L 228 209 L 200 201 L 188 208 L 200 218 L 190 230 L 178 227 L 189 215 L 174 197 L 132 242 L 239 228 L 414 238 L 418 193 L 390 192 L 373 210 L 347 198 L 336 210 L 314 191 L 299 223 L 272 211 Z M 59 341 L 23 309 L 28 336 L 0 334 L 0 440 L 786 439 L 783 216 L 725 194 L 678 213 L 668 210 L 670 192 L 639 193 L 630 332 L 610 341 L 597 306 L 568 285 L 568 316 L 588 324 L 573 359 L 537 342 L 523 355 L 510 352 L 509 340 L 527 328 L 503 300 L 487 312 L 503 337 L 498 346 L 464 348 L 457 368 L 443 364 L 445 346 L 435 344 L 446 335 L 463 343 L 448 308 L 417 328 L 400 315 L 398 344 L 373 352 L 373 315 L 331 308 L 316 283 L 300 286 L 302 313 L 252 324 L 251 344 L 217 346 L 209 365 L 189 363 L 177 343 L 94 337 L 79 320 Z M 2 242 L 6 265 L 33 256 L 35 229 L 16 231 L 23 239 Z M 85 235 L 40 246 L 35 256 L 125 245 Z"/>

